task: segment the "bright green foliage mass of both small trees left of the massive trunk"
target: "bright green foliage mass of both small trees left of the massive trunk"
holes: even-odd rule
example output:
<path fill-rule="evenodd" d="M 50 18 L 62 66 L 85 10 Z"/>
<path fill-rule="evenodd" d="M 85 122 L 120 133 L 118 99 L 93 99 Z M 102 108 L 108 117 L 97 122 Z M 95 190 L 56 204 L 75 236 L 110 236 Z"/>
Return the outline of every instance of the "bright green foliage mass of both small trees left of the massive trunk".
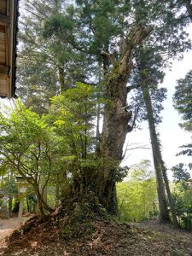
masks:
<path fill-rule="evenodd" d="M 36 193 L 47 184 L 59 184 L 66 193 L 74 177 L 96 166 L 95 117 L 96 93 L 87 84 L 52 98 L 44 115 L 18 100 L 8 116 L 1 114 L 0 163 L 24 177 Z"/>

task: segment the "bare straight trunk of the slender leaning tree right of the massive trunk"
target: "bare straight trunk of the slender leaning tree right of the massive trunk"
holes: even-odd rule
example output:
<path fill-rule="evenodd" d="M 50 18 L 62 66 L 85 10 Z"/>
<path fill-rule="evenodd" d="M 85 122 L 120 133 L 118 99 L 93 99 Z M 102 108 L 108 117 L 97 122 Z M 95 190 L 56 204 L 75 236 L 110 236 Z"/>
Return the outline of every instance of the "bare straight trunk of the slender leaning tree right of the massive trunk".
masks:
<path fill-rule="evenodd" d="M 160 143 L 158 140 L 158 136 L 155 129 L 154 123 L 154 113 L 151 103 L 151 98 L 148 91 L 148 85 L 143 84 L 143 99 L 147 108 L 147 115 L 148 115 L 148 126 L 150 131 L 150 138 L 151 138 L 151 145 L 153 151 L 153 158 L 154 158 L 154 169 L 156 173 L 156 180 L 157 180 L 157 195 L 159 200 L 159 209 L 160 209 L 160 221 L 167 222 L 170 221 L 167 204 L 166 204 L 166 193 L 165 187 L 163 183 L 162 177 L 162 169 L 161 169 L 161 161 L 160 161 Z"/>

